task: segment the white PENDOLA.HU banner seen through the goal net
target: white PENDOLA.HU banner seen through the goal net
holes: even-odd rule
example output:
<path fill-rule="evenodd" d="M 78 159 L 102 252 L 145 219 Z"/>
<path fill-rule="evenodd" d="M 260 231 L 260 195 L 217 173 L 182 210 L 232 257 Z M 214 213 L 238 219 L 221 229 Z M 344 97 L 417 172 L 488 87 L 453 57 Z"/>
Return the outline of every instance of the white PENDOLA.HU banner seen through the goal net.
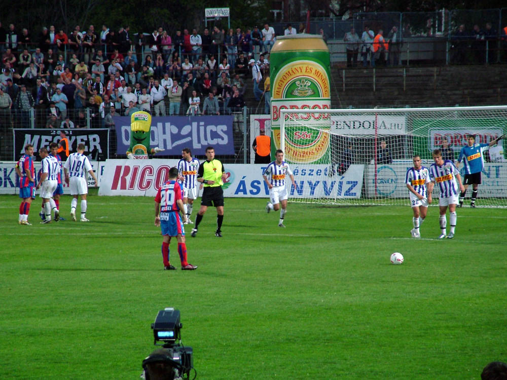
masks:
<path fill-rule="evenodd" d="M 377 120 L 375 120 L 377 119 Z M 339 135 L 374 135 L 375 125 L 379 135 L 405 135 L 407 119 L 393 115 L 331 115 L 331 132 Z"/>

